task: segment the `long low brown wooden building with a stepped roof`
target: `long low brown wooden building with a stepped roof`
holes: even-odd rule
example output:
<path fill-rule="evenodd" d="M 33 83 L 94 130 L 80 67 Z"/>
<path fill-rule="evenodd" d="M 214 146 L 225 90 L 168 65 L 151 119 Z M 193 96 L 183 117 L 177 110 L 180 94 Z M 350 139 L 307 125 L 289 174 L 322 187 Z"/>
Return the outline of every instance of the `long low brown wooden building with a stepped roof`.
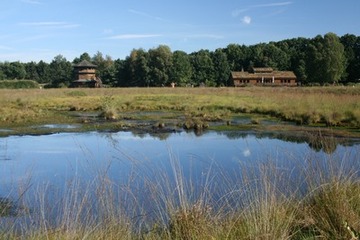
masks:
<path fill-rule="evenodd" d="M 296 86 L 296 76 L 292 71 L 274 71 L 272 68 L 252 68 L 249 72 L 231 72 L 235 87 L 246 85 Z"/>

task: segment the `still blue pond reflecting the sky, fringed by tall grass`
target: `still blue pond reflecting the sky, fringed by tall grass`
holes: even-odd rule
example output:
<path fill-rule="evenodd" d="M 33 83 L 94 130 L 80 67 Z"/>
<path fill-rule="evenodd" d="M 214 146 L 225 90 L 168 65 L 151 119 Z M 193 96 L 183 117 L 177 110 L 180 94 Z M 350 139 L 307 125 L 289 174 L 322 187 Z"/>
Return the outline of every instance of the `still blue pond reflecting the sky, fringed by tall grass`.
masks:
<path fill-rule="evenodd" d="M 218 202 L 240 187 L 244 175 L 260 174 L 255 166 L 261 165 L 286 176 L 284 185 L 298 188 L 304 169 L 330 160 L 357 168 L 359 152 L 359 139 L 251 131 L 9 136 L 0 138 L 0 198 L 24 199 L 22 205 L 35 212 L 44 199 L 55 204 L 75 188 L 99 190 L 107 183 L 123 191 L 115 198 L 126 202 L 126 209 L 153 211 L 154 192 L 163 198 L 184 191 L 190 200 L 206 192 Z M 59 210 L 49 214 L 54 211 Z"/>

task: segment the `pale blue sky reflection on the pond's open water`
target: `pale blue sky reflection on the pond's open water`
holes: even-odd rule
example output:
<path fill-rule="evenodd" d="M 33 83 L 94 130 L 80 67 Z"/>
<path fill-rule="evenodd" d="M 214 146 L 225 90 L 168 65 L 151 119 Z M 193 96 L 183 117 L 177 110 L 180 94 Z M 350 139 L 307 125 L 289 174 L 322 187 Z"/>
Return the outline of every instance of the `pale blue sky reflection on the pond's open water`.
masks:
<path fill-rule="evenodd" d="M 338 147 L 334 155 L 352 148 Z M 184 176 L 202 181 L 208 171 L 237 173 L 243 167 L 272 160 L 279 168 L 294 168 L 307 155 L 325 156 L 305 143 L 277 139 L 228 138 L 214 132 L 202 136 L 175 133 L 166 140 L 130 132 L 61 133 L 0 138 L 0 196 L 31 178 L 33 184 L 51 183 L 59 188 L 75 176 L 91 180 L 102 171 L 114 181 L 126 182 L 136 173 L 153 178 L 172 174 L 177 161 Z M 5 160 L 6 159 L 6 160 Z"/>

